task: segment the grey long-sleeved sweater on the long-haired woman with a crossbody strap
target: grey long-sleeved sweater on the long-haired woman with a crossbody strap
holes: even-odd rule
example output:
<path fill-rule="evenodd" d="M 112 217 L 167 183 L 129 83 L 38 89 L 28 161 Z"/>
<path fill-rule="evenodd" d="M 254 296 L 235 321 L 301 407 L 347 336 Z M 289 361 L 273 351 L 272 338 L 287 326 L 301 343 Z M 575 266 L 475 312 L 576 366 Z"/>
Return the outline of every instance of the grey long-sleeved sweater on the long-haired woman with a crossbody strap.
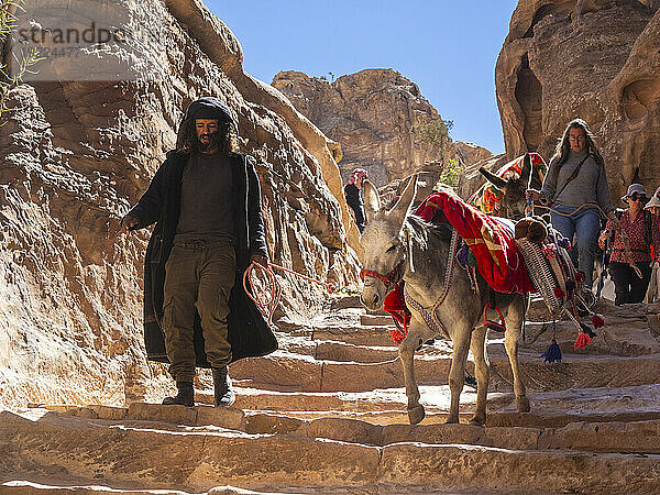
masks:
<path fill-rule="evenodd" d="M 584 204 L 598 205 L 605 213 L 614 210 L 612 197 L 609 196 L 609 186 L 607 185 L 607 176 L 605 167 L 600 166 L 593 156 L 588 156 L 582 166 L 578 176 L 571 180 L 566 187 L 561 190 L 559 197 L 554 197 L 565 182 L 573 175 L 575 167 L 586 156 L 586 150 L 580 153 L 570 151 L 569 158 L 559 166 L 558 160 L 550 162 L 550 168 L 541 193 L 546 195 L 548 200 L 556 201 L 560 205 L 569 207 L 580 207 Z"/>

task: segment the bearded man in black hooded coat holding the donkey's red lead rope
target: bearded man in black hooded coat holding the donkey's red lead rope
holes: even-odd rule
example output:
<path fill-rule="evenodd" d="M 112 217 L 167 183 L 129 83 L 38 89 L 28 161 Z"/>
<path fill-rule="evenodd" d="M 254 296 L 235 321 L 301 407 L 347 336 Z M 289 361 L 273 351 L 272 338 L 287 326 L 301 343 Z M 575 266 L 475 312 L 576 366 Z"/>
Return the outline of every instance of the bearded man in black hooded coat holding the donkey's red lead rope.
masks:
<path fill-rule="evenodd" d="M 240 282 L 250 263 L 268 261 L 258 178 L 238 153 L 237 129 L 218 98 L 190 103 L 176 150 L 122 219 L 128 230 L 156 222 L 144 267 L 144 327 L 148 358 L 170 363 L 178 388 L 166 405 L 195 405 L 197 365 L 212 369 L 215 405 L 230 406 L 227 365 L 277 346 Z"/>

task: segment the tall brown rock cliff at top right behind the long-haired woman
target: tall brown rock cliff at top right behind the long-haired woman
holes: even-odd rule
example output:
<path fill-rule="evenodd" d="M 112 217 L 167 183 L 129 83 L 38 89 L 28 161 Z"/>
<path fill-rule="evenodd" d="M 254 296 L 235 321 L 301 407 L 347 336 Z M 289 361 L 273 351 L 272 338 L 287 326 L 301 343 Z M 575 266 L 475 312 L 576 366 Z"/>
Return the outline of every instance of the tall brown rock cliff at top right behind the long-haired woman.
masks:
<path fill-rule="evenodd" d="M 506 155 L 549 160 L 566 123 L 596 133 L 614 197 L 660 185 L 657 1 L 520 0 L 495 82 Z"/>

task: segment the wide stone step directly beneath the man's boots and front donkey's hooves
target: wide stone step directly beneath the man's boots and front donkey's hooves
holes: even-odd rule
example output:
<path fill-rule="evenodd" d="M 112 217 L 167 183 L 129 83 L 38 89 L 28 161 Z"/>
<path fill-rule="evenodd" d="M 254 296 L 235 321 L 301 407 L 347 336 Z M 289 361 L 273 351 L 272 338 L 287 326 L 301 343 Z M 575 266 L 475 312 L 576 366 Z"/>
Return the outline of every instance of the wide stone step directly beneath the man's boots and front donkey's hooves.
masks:
<path fill-rule="evenodd" d="M 424 391 L 425 397 L 432 397 L 430 394 L 426 394 L 428 391 Z M 393 400 L 389 403 L 376 403 L 375 407 L 369 404 L 369 407 L 360 408 L 364 406 L 364 402 L 359 400 L 365 399 L 366 395 L 362 397 L 359 394 L 358 398 L 351 400 L 353 394 L 345 394 L 344 409 L 322 409 L 319 407 L 317 410 L 309 408 L 305 409 L 273 409 L 273 410 L 239 410 L 234 409 L 220 409 L 213 411 L 213 408 L 208 406 L 198 405 L 195 408 L 188 408 L 183 406 L 161 406 L 157 404 L 132 404 L 128 408 L 121 407 L 109 407 L 99 405 L 87 405 L 87 406 L 68 406 L 68 405 L 44 405 L 41 408 L 58 414 L 68 415 L 81 419 L 101 419 L 107 421 L 122 422 L 124 425 L 139 422 L 144 425 L 150 424 L 172 424 L 172 425 L 188 425 L 196 427 L 213 426 L 220 428 L 234 427 L 230 429 L 238 429 L 250 433 L 280 433 L 287 435 L 298 430 L 304 424 L 309 424 L 316 419 L 351 419 L 367 422 L 372 426 L 387 426 L 387 425 L 407 425 L 408 418 L 406 415 L 405 406 L 405 393 L 403 389 L 399 391 L 381 391 L 381 393 L 392 394 Z M 397 394 L 398 393 L 398 394 Z M 449 391 L 444 391 L 446 400 L 444 404 L 426 404 L 427 416 L 421 425 L 442 425 L 447 420 L 448 408 L 449 408 Z M 284 394 L 289 396 L 289 394 Z M 630 424 L 638 421 L 660 421 L 660 410 L 618 410 L 609 413 L 564 413 L 562 410 L 549 410 L 546 408 L 539 409 L 538 413 L 507 413 L 504 409 L 498 411 L 502 404 L 513 405 L 514 397 L 504 397 L 505 394 L 501 394 L 501 397 L 494 397 L 488 399 L 488 416 L 487 427 L 506 427 L 506 428 L 563 428 L 571 424 L 583 424 L 583 422 L 608 422 L 608 424 Z M 326 396 L 327 397 L 327 396 Z M 400 402 L 396 402 L 396 398 L 400 398 Z M 198 394 L 198 398 L 211 400 L 211 396 Z M 311 402 L 315 406 L 319 404 L 314 399 L 320 397 L 308 397 L 307 400 Z M 329 398 L 329 397 L 327 397 Z M 471 417 L 471 410 L 474 407 L 474 396 L 471 400 L 461 404 L 460 418 L 462 424 L 466 424 Z M 339 399 L 339 397 L 338 397 Z M 530 396 L 532 404 L 539 402 L 538 397 L 534 394 Z M 237 404 L 240 402 L 240 391 Z M 502 403 L 502 404 L 499 404 Z M 326 403 L 324 405 L 329 405 Z M 336 404 L 337 405 L 337 404 Z M 398 409 L 398 410 L 396 410 Z M 495 409 L 495 410 L 494 410 Z M 235 416 L 237 413 L 241 418 L 240 421 L 228 420 L 227 414 Z M 242 415 L 241 415 L 242 413 Z M 307 433 L 305 433 L 307 435 Z"/>

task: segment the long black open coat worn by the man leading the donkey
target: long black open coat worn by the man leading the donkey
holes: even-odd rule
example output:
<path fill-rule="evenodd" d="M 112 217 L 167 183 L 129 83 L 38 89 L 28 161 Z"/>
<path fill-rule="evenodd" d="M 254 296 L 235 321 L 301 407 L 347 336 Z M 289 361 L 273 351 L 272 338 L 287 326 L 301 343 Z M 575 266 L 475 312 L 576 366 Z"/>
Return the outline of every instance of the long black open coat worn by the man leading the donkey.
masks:
<path fill-rule="evenodd" d="M 148 189 L 131 210 L 131 215 L 140 219 L 135 229 L 156 222 L 144 261 L 144 345 L 148 360 L 163 363 L 168 362 L 161 328 L 165 263 L 174 244 L 180 210 L 182 177 L 188 156 L 182 151 L 168 152 Z M 275 351 L 277 340 L 243 289 L 243 272 L 250 263 L 250 255 L 267 256 L 258 178 L 248 155 L 232 153 L 230 158 L 238 242 L 237 277 L 229 299 L 228 326 L 232 361 L 237 361 Z M 204 332 L 197 311 L 194 342 L 196 365 L 210 367 L 204 350 Z"/>

